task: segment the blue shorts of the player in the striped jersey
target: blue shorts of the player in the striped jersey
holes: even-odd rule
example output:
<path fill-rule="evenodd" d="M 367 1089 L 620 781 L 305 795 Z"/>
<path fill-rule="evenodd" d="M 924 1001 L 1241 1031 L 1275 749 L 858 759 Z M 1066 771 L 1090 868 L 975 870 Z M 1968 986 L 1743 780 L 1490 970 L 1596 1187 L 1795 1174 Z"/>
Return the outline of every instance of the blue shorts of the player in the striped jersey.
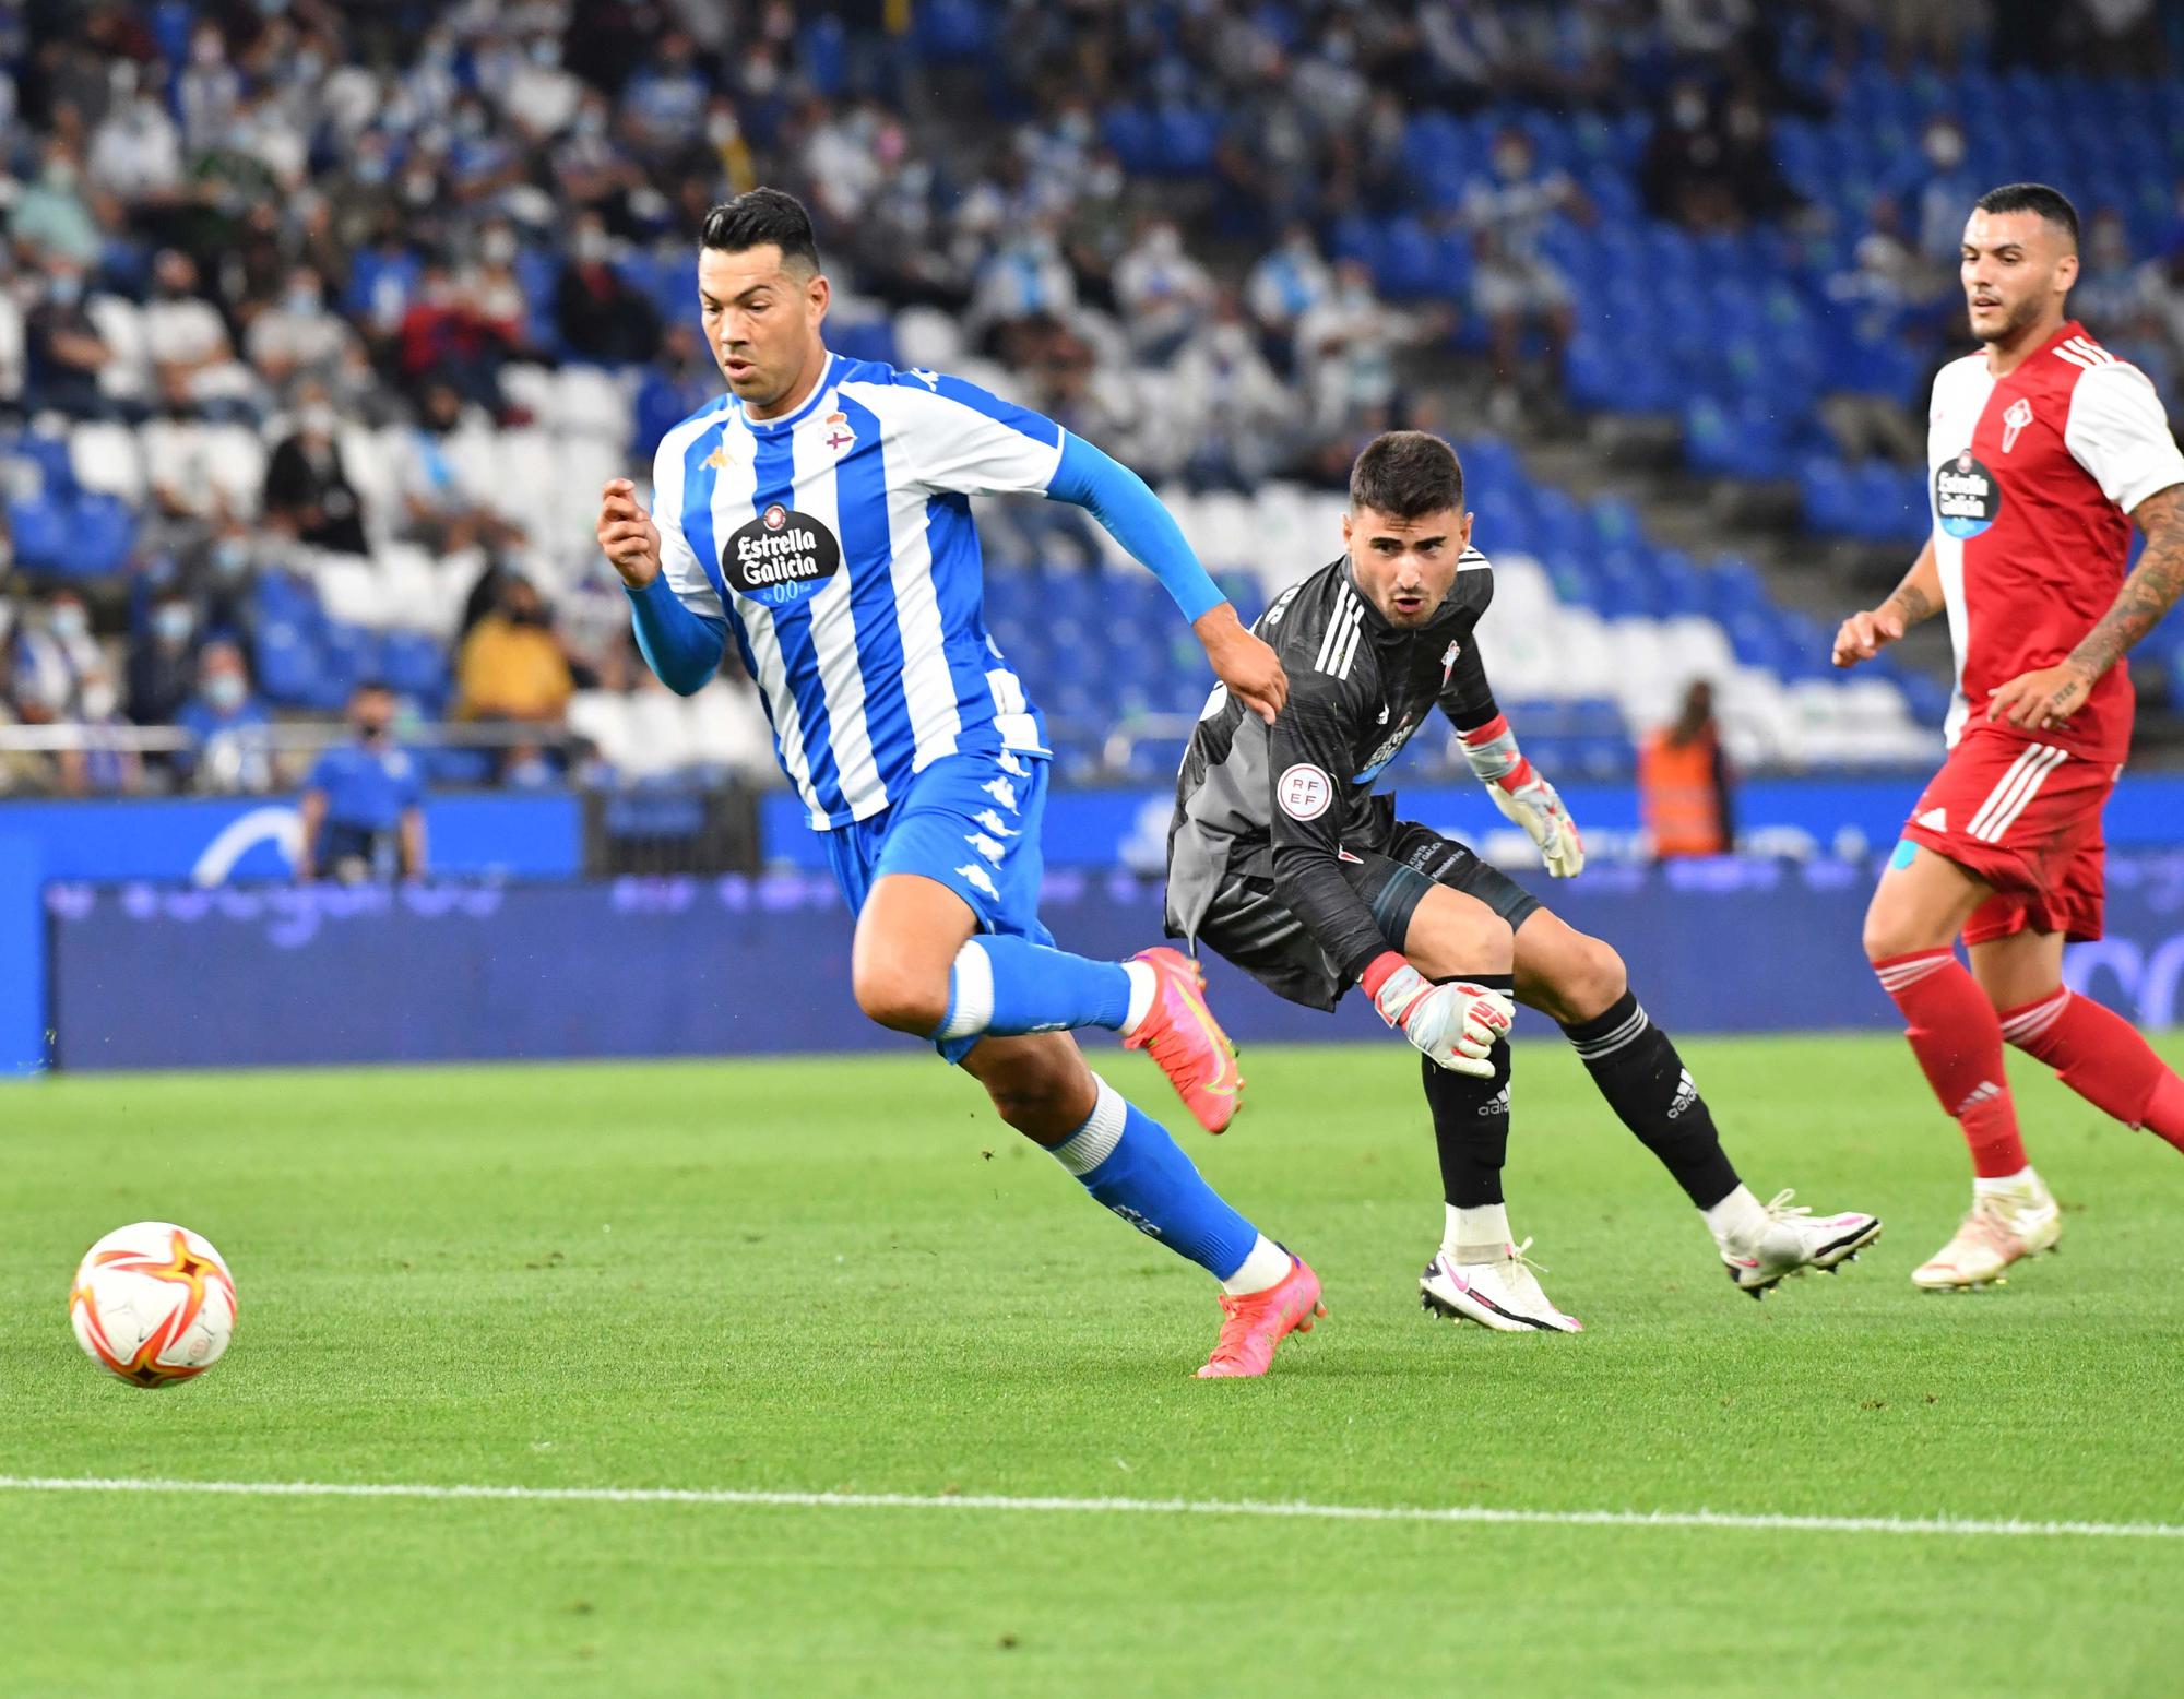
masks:
<path fill-rule="evenodd" d="M 909 795 L 871 819 L 826 832 L 826 858 L 850 913 L 863 913 L 876 880 L 917 874 L 954 891 L 981 932 L 1053 943 L 1040 922 L 1040 821 L 1046 760 L 1037 756 L 941 756 L 911 780 Z M 978 1039 L 948 1039 L 961 1061 Z"/>

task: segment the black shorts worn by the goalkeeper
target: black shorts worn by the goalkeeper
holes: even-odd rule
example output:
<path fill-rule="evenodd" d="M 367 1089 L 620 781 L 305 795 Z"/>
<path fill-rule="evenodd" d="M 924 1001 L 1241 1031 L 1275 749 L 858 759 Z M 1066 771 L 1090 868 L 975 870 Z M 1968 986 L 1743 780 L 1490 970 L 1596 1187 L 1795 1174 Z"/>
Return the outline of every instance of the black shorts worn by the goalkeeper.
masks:
<path fill-rule="evenodd" d="M 1540 908 L 1522 884 L 1431 828 L 1400 821 L 1385 850 L 1343 852 L 1343 876 L 1365 898 L 1389 950 L 1402 950 L 1411 915 L 1435 884 L 1479 898 L 1514 932 Z M 1304 922 L 1282 902 L 1273 880 L 1234 874 L 1223 880 L 1199 924 L 1199 941 L 1234 961 L 1275 996 L 1308 1009 L 1332 1009 L 1350 981 L 1341 976 Z"/>

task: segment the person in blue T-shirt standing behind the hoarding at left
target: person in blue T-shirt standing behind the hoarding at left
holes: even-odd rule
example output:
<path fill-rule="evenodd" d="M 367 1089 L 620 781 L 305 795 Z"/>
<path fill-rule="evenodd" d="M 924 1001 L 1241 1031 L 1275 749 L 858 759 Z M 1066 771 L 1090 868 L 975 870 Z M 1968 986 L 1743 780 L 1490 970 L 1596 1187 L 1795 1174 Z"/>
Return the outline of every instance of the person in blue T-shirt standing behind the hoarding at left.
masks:
<path fill-rule="evenodd" d="M 369 679 L 349 694 L 352 742 L 319 756 L 304 782 L 299 882 L 424 878 L 424 777 L 395 742 L 395 694 Z"/>

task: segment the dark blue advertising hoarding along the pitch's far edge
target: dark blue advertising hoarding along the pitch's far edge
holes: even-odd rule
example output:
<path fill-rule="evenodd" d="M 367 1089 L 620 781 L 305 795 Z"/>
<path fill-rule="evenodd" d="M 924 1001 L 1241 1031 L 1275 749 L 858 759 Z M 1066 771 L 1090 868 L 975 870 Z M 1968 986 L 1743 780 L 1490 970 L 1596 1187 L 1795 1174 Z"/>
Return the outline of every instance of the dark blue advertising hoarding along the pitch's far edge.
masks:
<path fill-rule="evenodd" d="M 1841 860 L 1603 867 L 1548 895 L 1623 952 L 1673 1029 L 1891 1029 L 1896 1011 L 1859 950 L 1874 874 Z M 911 1044 L 856 1011 L 850 917 L 826 876 L 404 891 L 57 884 L 46 906 L 63 1068 Z M 1059 871 L 1044 913 L 1064 946 L 1120 957 L 1160 937 L 1160 887 Z M 2184 854 L 2112 858 L 2110 928 L 2108 941 L 2073 948 L 2070 983 L 2145 1026 L 2173 1024 Z M 1697 943 L 1723 937 L 1736 939 L 1732 957 Z M 1219 961 L 1210 981 L 1243 1042 L 1380 1031 L 1356 998 L 1328 1018 Z"/>

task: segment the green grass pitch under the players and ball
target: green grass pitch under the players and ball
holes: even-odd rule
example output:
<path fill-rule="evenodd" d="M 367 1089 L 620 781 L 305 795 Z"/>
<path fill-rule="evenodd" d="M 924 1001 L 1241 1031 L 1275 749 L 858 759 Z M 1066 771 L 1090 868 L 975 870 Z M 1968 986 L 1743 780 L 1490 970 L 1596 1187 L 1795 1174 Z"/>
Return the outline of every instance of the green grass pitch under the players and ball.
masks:
<path fill-rule="evenodd" d="M 1254 1050 L 1186 1149 L 1332 1315 L 1232 1385 L 1188 1378 L 1210 1284 L 928 1057 L 39 1081 L 0 1474 L 2184 1524 L 2173 1151 L 2020 1068 L 2062 1254 L 1928 1297 L 1966 1166 L 1902 1044 L 1688 1055 L 1754 1190 L 1887 1216 L 1856 1267 L 1738 1297 L 1531 1044 L 1511 1219 L 1588 1332 L 1431 1321 L 1409 1050 Z M 142 1216 L 242 1293 L 157 1393 L 63 1312 Z M 2184 1692 L 2175 1537 L 24 1489 L 0 1531 L 0 1695 L 52 1699 Z"/>

